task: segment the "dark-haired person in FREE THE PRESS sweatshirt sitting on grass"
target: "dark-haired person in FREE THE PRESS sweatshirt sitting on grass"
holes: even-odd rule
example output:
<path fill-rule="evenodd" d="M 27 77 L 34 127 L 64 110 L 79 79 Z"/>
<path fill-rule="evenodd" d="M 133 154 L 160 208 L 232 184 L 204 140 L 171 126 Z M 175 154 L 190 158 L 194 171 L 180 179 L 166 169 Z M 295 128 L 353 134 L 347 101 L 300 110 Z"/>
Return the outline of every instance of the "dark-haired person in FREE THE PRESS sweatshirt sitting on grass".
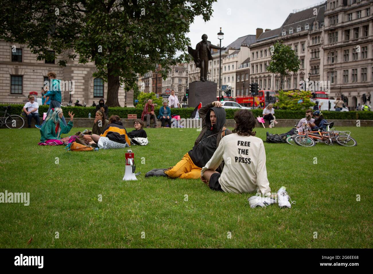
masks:
<path fill-rule="evenodd" d="M 201 180 L 210 189 L 229 193 L 260 193 L 249 198 L 252 207 L 273 204 L 267 178 L 266 152 L 262 139 L 253 131 L 256 119 L 249 110 L 236 111 L 233 134 L 223 138 L 211 159 L 201 170 Z M 222 162 L 226 164 L 222 173 L 216 171 Z M 281 195 L 285 195 L 281 191 Z M 265 197 L 266 196 L 266 197 Z M 291 207 L 288 196 L 280 207 Z M 280 200 L 279 200 L 280 201 Z M 287 203 L 286 203 L 287 201 Z M 254 206 L 253 206 L 254 205 Z"/>

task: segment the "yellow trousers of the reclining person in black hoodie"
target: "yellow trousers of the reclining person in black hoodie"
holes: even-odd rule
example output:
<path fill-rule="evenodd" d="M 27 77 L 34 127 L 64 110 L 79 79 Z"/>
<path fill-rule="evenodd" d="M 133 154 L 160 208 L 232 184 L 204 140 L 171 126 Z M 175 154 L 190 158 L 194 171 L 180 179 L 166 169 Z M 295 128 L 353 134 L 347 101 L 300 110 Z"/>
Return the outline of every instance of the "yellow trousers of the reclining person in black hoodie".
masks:
<path fill-rule="evenodd" d="M 201 176 L 201 170 L 186 153 L 179 163 L 165 170 L 164 173 L 170 178 L 198 179 Z"/>

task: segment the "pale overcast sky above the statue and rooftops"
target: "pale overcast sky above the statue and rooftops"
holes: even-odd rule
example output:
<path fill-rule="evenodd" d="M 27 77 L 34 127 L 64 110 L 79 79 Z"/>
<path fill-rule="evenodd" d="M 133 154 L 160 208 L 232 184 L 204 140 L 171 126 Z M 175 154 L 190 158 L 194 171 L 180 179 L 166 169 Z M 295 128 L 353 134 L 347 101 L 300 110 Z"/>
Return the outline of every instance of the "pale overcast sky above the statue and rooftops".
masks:
<path fill-rule="evenodd" d="M 192 47 L 201 41 L 206 33 L 208 40 L 218 44 L 217 33 L 220 27 L 224 33 L 222 46 L 227 46 L 238 37 L 256 34 L 257 28 L 279 28 L 294 9 L 320 3 L 317 0 L 217 0 L 213 4 L 213 14 L 206 23 L 196 17 L 190 26 L 188 37 Z M 230 10 L 229 10 L 230 9 Z M 228 14 L 230 11 L 230 15 Z"/>

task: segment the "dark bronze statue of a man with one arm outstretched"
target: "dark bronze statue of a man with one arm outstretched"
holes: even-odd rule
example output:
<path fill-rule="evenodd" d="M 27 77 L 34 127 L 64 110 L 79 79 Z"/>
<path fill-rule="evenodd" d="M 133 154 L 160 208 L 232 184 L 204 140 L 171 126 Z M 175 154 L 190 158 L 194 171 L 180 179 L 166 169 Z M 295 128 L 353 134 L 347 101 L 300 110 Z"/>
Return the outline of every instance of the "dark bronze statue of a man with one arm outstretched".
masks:
<path fill-rule="evenodd" d="M 196 67 L 201 69 L 201 81 L 207 80 L 207 72 L 209 71 L 209 60 L 212 60 L 211 48 L 216 50 L 226 50 L 225 47 L 218 47 L 207 41 L 207 35 L 202 35 L 202 41 L 195 46 L 195 50 L 188 46 L 188 53 L 193 57 Z"/>

